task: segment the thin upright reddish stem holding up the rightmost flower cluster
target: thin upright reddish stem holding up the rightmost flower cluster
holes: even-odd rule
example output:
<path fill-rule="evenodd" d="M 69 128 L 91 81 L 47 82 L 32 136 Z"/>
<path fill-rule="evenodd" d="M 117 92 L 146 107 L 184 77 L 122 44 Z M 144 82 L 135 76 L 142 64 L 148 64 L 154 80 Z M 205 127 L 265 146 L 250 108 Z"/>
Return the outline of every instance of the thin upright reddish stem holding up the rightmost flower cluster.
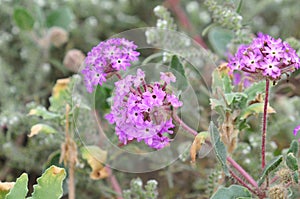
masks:
<path fill-rule="evenodd" d="M 264 169 L 266 166 L 266 134 L 267 134 L 269 87 L 270 87 L 270 80 L 266 79 L 266 91 L 265 91 L 266 96 L 264 102 L 263 128 L 262 128 L 262 138 L 261 138 L 261 168 L 262 169 Z"/>

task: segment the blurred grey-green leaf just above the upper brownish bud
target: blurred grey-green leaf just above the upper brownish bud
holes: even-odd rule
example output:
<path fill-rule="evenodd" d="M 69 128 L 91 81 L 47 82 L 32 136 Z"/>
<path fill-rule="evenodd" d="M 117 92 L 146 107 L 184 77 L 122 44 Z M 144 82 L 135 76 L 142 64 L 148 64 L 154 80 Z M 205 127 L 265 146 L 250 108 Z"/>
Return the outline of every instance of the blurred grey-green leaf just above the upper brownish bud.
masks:
<path fill-rule="evenodd" d="M 52 11 L 46 19 L 48 27 L 59 26 L 68 29 L 74 19 L 74 13 L 68 7 L 60 7 Z"/>

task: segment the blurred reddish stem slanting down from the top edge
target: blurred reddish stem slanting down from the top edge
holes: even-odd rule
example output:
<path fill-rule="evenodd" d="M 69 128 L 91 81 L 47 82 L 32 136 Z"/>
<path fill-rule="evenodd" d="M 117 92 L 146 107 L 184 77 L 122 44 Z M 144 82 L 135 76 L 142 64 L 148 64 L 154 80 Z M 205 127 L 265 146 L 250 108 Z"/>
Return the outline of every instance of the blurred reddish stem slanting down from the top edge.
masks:
<path fill-rule="evenodd" d="M 174 14 L 177 16 L 181 25 L 190 32 L 195 32 L 195 28 L 190 23 L 189 18 L 185 14 L 184 10 L 180 6 L 180 0 L 166 0 L 167 7 L 169 7 Z M 207 49 L 207 45 L 200 37 L 200 35 L 195 35 L 193 39 L 198 42 L 203 48 Z"/>

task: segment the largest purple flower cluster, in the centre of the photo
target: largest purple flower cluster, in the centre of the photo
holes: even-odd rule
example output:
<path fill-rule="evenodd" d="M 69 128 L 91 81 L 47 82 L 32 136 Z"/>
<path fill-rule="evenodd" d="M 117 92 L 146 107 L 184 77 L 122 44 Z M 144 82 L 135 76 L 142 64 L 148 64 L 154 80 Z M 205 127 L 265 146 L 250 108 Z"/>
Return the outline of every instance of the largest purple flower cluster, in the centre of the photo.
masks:
<path fill-rule="evenodd" d="M 116 124 L 115 131 L 120 142 L 127 144 L 136 139 L 154 149 L 161 149 L 171 141 L 171 107 L 178 108 L 182 102 L 167 89 L 176 78 L 171 73 L 161 73 L 162 82 L 146 84 L 141 69 L 136 75 L 127 75 L 115 83 L 116 89 L 111 112 L 105 118 Z"/>

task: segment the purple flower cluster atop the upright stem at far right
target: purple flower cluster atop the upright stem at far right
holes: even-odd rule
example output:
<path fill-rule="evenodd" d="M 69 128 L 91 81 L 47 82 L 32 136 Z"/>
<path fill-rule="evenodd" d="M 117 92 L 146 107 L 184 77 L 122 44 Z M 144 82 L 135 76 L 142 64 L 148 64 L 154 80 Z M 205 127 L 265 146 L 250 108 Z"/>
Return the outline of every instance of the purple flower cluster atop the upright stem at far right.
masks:
<path fill-rule="evenodd" d="M 296 51 L 281 39 L 259 33 L 250 45 L 241 45 L 229 60 L 231 70 L 261 74 L 271 80 L 300 68 Z"/>

